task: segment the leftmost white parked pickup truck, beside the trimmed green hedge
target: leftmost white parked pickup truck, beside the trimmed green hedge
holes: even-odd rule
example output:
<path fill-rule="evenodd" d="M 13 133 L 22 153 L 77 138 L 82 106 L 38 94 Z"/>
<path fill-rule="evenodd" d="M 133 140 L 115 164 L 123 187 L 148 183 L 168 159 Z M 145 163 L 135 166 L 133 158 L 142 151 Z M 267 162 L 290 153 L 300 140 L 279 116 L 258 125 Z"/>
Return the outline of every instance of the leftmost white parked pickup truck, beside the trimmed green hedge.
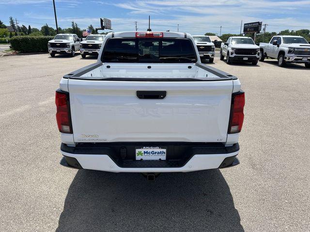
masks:
<path fill-rule="evenodd" d="M 76 34 L 58 34 L 53 40 L 48 41 L 48 52 L 51 57 L 55 57 L 56 54 L 69 54 L 74 57 L 81 41 Z"/>

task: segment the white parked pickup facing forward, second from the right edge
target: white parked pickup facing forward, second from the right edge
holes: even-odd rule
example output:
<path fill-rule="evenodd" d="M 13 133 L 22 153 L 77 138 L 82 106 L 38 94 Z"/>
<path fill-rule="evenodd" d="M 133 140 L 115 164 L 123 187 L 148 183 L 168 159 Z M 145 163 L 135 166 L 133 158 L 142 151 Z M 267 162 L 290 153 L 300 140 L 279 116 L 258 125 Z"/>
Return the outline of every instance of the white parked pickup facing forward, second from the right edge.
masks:
<path fill-rule="evenodd" d="M 228 64 L 233 61 L 251 62 L 257 65 L 260 55 L 260 47 L 257 46 L 252 38 L 243 36 L 229 37 L 226 43 L 221 44 L 219 59 L 226 60 Z"/>

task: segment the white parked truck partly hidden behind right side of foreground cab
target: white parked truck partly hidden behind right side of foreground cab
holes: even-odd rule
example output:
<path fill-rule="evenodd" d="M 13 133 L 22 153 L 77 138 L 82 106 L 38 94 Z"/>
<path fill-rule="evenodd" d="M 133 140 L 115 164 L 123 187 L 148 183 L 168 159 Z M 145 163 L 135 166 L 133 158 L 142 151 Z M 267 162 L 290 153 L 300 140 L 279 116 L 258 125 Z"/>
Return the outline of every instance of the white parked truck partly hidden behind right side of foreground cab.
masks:
<path fill-rule="evenodd" d="M 210 37 L 206 35 L 193 35 L 199 56 L 201 59 L 209 59 L 213 63 L 215 56 L 215 45 L 211 42 Z"/>

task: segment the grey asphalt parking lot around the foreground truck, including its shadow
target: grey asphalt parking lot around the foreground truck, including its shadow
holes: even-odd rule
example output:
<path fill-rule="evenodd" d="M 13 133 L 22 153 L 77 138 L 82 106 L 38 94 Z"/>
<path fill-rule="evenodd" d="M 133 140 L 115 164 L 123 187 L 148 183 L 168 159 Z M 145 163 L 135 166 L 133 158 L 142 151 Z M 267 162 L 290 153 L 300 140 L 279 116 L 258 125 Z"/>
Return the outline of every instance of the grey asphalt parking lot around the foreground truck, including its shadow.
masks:
<path fill-rule="evenodd" d="M 246 92 L 240 165 L 140 174 L 59 165 L 55 89 L 95 62 L 48 54 L 0 57 L 0 231 L 310 231 L 310 70 L 276 60 L 210 64 Z"/>

